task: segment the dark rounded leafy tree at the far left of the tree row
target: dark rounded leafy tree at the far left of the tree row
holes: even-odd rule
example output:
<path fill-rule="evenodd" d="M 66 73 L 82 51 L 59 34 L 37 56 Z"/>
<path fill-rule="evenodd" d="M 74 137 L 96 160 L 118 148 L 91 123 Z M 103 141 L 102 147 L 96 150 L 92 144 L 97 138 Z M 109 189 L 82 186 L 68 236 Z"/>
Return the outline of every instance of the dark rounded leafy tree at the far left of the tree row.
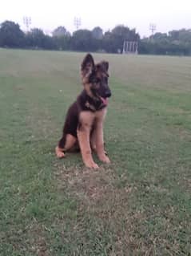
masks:
<path fill-rule="evenodd" d="M 23 47 L 25 34 L 20 26 L 11 21 L 2 22 L 0 27 L 0 46 L 2 47 Z"/>

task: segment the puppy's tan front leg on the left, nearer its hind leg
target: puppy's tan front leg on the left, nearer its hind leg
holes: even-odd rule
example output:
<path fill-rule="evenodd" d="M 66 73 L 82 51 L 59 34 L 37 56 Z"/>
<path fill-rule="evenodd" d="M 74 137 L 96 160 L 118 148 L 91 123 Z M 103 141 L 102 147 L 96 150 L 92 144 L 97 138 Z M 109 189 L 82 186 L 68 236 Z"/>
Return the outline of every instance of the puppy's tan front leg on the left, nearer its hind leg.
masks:
<path fill-rule="evenodd" d="M 90 147 L 90 126 L 87 124 L 79 125 L 77 136 L 84 164 L 88 168 L 97 169 L 98 165 L 94 163 Z"/>

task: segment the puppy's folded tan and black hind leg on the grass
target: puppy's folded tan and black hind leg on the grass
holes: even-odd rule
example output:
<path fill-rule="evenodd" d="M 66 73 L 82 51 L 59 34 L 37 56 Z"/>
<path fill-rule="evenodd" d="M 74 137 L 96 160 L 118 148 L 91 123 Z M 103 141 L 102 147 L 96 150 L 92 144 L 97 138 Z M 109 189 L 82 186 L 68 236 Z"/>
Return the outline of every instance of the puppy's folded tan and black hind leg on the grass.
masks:
<path fill-rule="evenodd" d="M 73 148 L 76 142 L 77 138 L 72 136 L 71 134 L 66 134 L 66 136 L 62 137 L 62 139 L 58 143 L 58 146 L 55 148 L 55 152 L 58 158 L 64 157 L 64 152 Z"/>

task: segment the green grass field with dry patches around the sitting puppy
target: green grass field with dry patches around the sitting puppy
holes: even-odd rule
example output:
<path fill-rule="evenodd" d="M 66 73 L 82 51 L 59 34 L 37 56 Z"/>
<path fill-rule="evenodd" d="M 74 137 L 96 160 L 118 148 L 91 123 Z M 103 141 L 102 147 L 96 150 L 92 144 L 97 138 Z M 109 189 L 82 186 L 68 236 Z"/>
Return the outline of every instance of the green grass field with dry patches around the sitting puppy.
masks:
<path fill-rule="evenodd" d="M 191 255 L 191 58 L 109 60 L 111 165 L 54 156 L 84 54 L 0 49 L 0 255 Z"/>

